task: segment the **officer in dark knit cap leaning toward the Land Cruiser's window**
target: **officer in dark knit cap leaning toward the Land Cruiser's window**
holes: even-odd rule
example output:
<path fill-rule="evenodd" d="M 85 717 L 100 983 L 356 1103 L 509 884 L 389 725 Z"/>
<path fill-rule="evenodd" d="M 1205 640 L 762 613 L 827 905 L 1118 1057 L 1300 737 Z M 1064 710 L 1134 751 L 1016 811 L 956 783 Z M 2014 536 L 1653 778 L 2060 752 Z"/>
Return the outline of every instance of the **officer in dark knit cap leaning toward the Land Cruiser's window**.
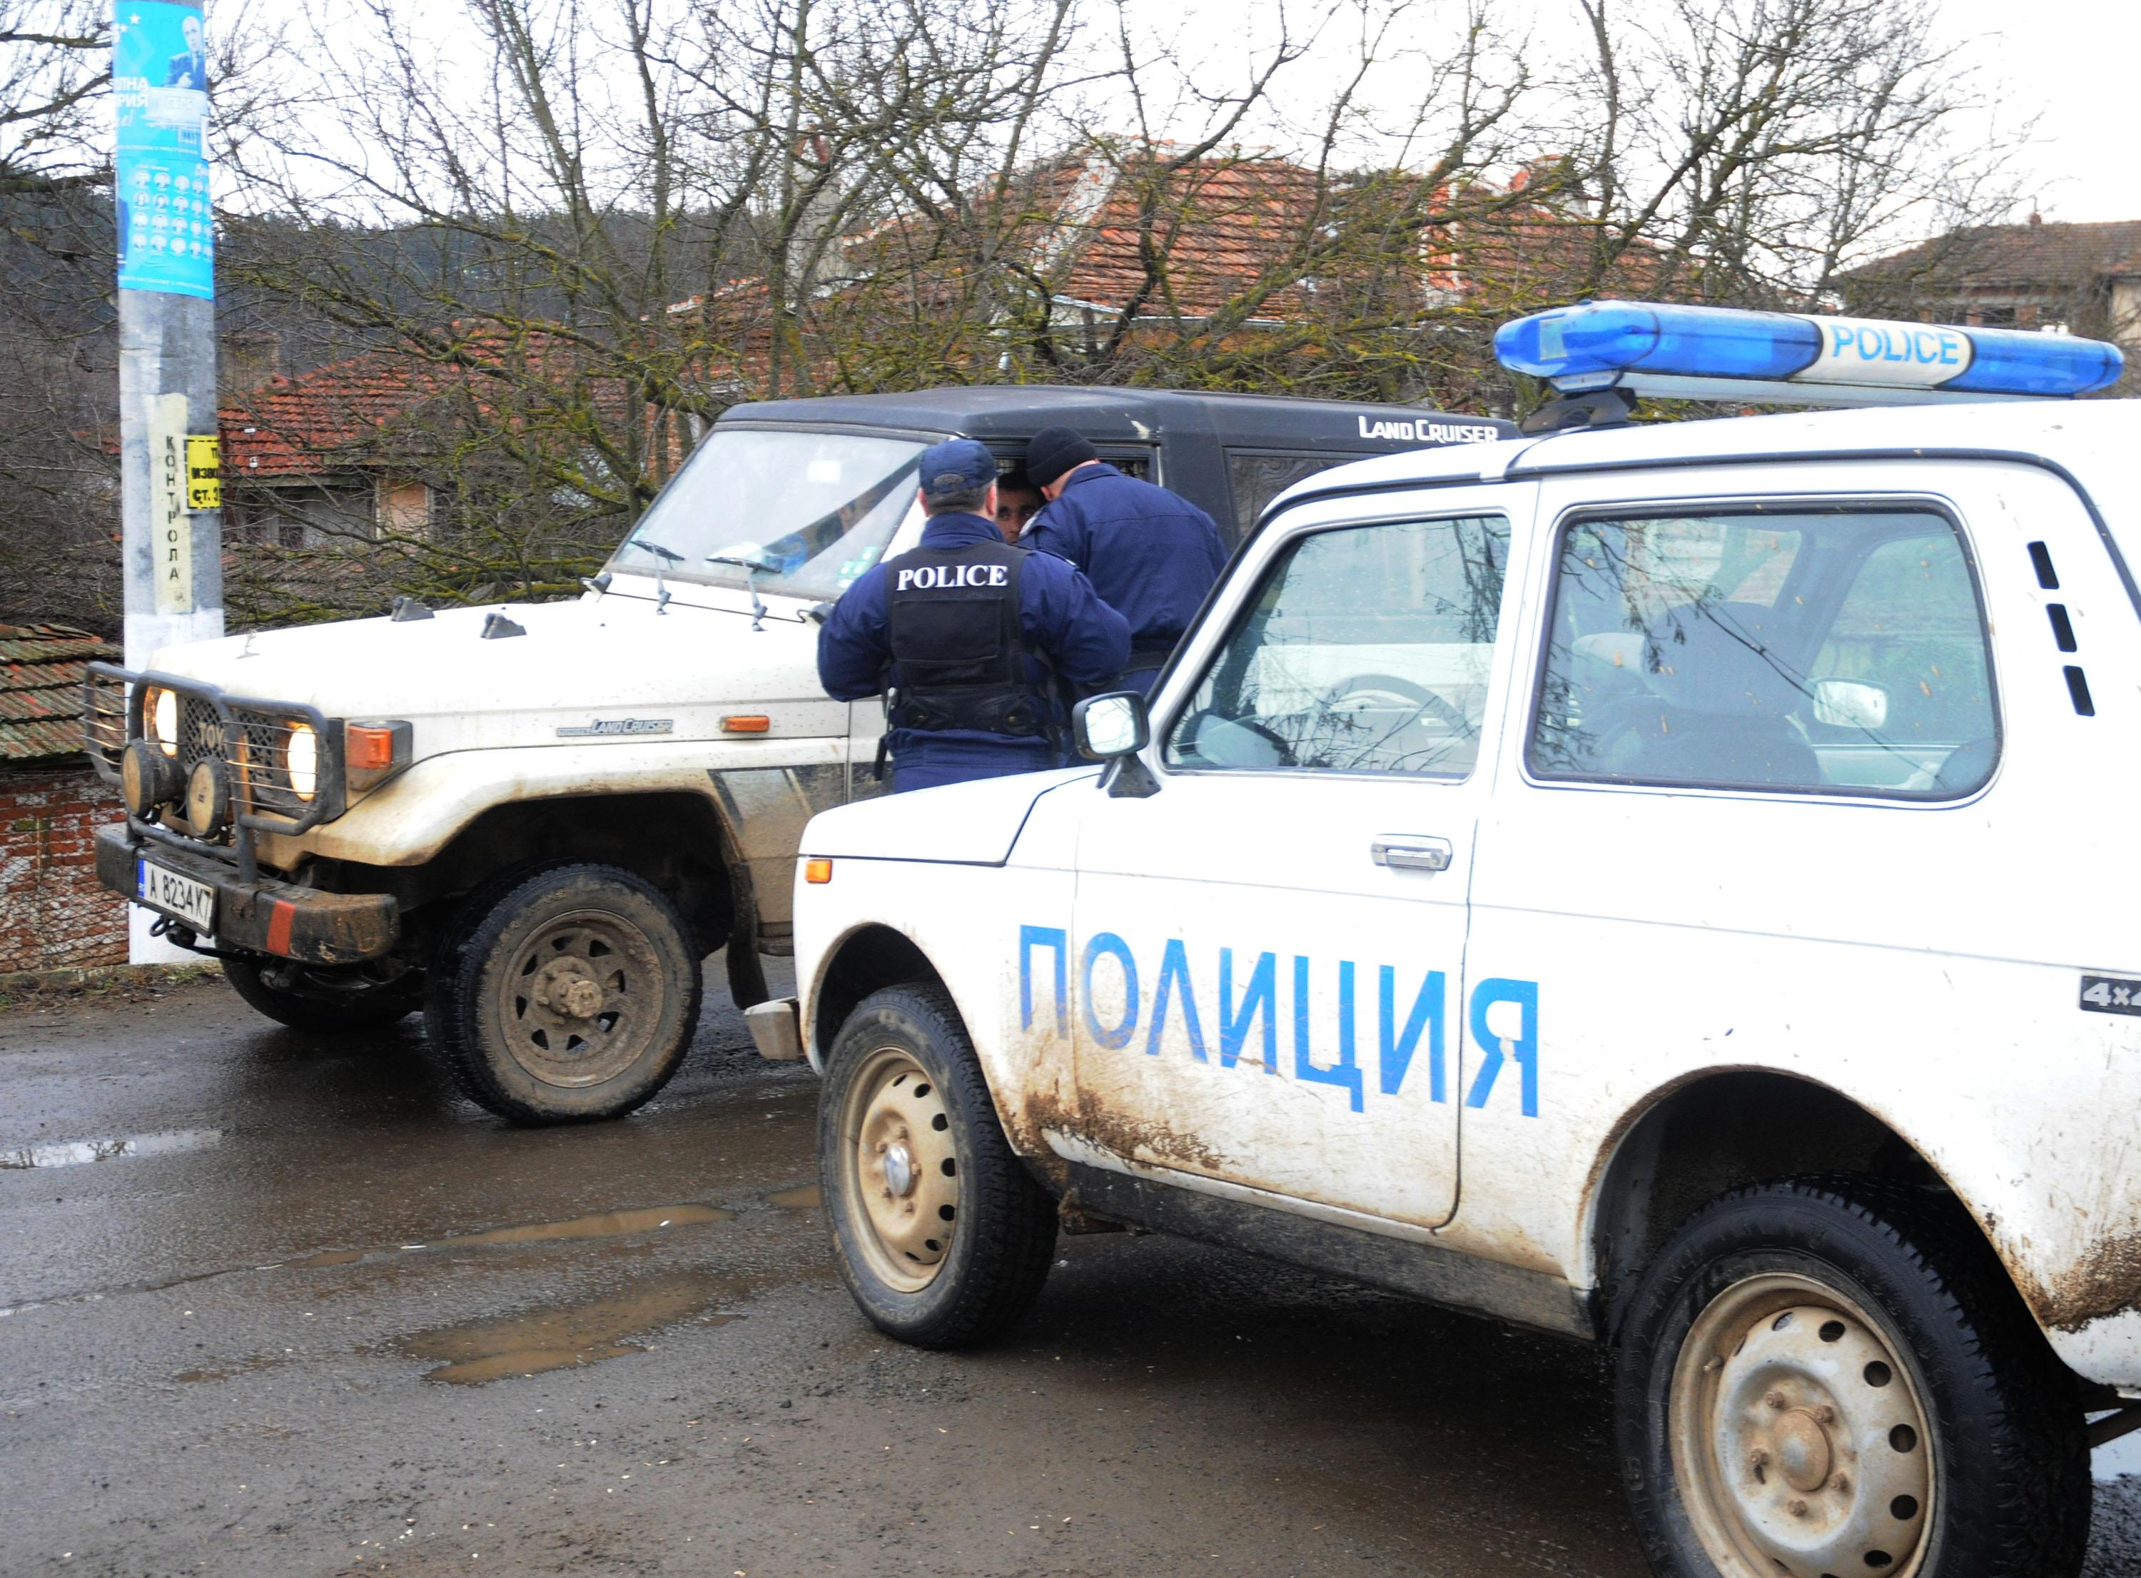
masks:
<path fill-rule="evenodd" d="M 1019 542 L 1068 559 L 1130 621 L 1122 689 L 1152 689 L 1227 563 L 1218 527 L 1188 499 L 1107 465 L 1073 428 L 1036 433 L 1026 473 L 1049 503 Z"/>

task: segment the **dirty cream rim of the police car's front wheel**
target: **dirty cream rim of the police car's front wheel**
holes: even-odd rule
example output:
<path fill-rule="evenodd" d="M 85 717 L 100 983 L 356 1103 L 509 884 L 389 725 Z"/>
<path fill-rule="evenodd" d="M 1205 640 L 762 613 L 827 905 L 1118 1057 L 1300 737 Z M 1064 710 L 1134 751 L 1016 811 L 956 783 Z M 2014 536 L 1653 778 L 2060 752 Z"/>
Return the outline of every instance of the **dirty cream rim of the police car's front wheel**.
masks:
<path fill-rule="evenodd" d="M 921 1293 L 944 1268 L 959 1218 L 959 1158 L 944 1094 L 904 1047 L 878 1047 L 848 1083 L 839 1190 L 871 1274 Z"/>

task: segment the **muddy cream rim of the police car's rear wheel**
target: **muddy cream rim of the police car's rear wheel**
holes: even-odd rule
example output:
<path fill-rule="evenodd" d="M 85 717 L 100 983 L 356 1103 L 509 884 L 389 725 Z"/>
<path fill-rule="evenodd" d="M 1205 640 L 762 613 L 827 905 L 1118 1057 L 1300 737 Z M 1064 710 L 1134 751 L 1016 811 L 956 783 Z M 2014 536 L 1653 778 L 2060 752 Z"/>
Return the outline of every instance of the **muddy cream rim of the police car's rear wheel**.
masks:
<path fill-rule="evenodd" d="M 1721 1578 L 1910 1578 L 1938 1492 L 1918 1379 L 1888 1330 L 1811 1276 L 1734 1283 L 1668 1396 L 1672 1473 Z"/>

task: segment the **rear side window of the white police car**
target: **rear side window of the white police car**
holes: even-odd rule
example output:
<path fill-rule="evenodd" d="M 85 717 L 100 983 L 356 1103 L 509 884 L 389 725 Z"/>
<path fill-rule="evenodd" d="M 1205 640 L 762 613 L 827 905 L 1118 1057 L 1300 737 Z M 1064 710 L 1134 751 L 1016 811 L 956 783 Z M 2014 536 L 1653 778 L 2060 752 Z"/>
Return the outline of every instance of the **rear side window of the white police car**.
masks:
<path fill-rule="evenodd" d="M 1998 756 L 1985 617 L 1938 514 L 1561 533 L 1537 777 L 1953 799 Z"/>

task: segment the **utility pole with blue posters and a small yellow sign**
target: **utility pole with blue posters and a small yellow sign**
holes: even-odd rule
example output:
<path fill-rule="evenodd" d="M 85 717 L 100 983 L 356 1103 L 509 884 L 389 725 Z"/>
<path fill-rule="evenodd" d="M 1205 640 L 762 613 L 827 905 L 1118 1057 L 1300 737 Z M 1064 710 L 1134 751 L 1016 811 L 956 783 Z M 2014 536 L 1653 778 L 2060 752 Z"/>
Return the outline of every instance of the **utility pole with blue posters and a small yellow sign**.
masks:
<path fill-rule="evenodd" d="M 118 0 L 120 548 L 126 666 L 223 634 L 216 227 L 201 0 Z M 131 910 L 128 957 L 184 959 Z"/>

